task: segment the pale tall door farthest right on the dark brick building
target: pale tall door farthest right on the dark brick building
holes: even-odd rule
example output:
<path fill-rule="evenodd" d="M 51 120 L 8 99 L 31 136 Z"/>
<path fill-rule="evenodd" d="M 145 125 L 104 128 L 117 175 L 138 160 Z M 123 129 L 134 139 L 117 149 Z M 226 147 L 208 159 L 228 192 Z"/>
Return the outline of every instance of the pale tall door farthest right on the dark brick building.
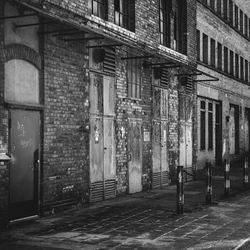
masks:
<path fill-rule="evenodd" d="M 179 164 L 184 167 L 188 174 L 192 174 L 193 143 L 192 143 L 192 97 L 180 95 L 180 154 Z M 186 179 L 190 179 L 187 175 Z"/>

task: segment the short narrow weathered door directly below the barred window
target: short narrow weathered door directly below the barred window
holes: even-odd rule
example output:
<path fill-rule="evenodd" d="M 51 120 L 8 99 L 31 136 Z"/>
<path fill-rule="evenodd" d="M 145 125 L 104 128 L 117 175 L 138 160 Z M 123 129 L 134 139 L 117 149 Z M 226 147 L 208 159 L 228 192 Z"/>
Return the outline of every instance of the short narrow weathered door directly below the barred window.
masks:
<path fill-rule="evenodd" d="M 137 193 L 142 191 L 141 120 L 129 119 L 128 158 L 129 193 Z"/>

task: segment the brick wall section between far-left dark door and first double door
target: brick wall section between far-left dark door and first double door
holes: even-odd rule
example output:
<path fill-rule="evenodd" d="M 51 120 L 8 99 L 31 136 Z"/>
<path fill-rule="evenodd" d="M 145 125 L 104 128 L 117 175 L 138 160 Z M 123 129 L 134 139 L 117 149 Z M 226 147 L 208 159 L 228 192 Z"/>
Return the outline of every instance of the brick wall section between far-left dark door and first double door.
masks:
<path fill-rule="evenodd" d="M 89 125 L 87 68 L 83 44 L 45 37 L 42 186 L 46 206 L 88 199 L 89 134 L 84 132 Z"/>

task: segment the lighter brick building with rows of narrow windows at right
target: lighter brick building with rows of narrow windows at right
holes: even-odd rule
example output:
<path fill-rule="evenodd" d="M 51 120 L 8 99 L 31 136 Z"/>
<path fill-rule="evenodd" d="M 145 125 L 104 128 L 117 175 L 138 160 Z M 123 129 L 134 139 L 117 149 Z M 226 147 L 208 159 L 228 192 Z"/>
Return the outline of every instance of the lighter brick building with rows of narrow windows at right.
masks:
<path fill-rule="evenodd" d="M 247 1 L 197 1 L 198 69 L 218 78 L 197 84 L 198 168 L 249 152 L 249 51 Z"/>

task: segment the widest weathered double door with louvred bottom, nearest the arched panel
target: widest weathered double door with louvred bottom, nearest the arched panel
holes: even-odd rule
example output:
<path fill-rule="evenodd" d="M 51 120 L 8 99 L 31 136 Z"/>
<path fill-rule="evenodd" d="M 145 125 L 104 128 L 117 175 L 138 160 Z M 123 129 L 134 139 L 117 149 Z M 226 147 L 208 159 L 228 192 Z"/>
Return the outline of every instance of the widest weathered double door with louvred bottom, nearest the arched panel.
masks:
<path fill-rule="evenodd" d="M 115 197 L 114 78 L 90 79 L 90 200 Z"/>

